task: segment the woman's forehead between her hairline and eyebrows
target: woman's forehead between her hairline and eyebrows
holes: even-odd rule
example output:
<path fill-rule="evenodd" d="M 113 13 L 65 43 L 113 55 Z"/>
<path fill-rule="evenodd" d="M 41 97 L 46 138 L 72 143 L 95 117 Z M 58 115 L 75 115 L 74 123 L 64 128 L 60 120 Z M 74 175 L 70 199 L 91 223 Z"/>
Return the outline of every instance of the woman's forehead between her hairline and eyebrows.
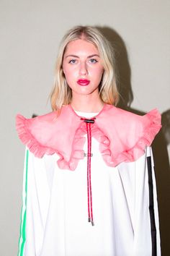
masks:
<path fill-rule="evenodd" d="M 94 43 L 90 43 L 86 40 L 77 39 L 68 43 L 66 46 L 66 54 L 99 54 L 97 46 Z"/>

